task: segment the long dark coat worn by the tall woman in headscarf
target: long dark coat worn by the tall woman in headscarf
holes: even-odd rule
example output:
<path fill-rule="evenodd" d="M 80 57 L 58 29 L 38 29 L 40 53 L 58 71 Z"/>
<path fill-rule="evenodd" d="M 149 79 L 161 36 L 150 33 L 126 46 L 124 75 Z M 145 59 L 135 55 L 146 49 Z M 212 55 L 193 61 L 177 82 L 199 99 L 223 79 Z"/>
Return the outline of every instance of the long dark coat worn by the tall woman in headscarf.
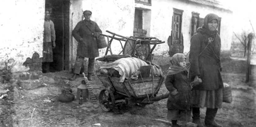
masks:
<path fill-rule="evenodd" d="M 189 77 L 192 81 L 195 76 L 202 79 L 201 85 L 194 90 L 217 90 L 224 87 L 220 74 L 220 36 L 218 33 L 210 35 L 204 29 L 199 28 L 191 38 Z M 210 37 L 213 39 L 211 43 L 208 40 Z"/>

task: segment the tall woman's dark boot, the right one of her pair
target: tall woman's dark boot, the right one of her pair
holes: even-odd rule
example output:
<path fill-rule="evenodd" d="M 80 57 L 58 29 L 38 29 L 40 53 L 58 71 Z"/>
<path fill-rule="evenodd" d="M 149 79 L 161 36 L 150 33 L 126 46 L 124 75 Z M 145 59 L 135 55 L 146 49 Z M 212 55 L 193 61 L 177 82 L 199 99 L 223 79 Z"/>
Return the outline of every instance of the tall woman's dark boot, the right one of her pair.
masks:
<path fill-rule="evenodd" d="M 223 127 L 222 125 L 219 125 L 214 120 L 216 114 L 217 114 L 218 108 L 207 108 L 205 113 L 205 126 L 207 127 Z"/>

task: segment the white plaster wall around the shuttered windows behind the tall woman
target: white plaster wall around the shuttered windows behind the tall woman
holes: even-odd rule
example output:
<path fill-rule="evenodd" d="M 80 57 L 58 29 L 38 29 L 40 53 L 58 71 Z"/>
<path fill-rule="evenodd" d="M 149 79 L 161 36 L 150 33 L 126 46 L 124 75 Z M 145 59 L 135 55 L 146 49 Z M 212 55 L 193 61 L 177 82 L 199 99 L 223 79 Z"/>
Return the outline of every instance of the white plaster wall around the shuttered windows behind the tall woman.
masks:
<path fill-rule="evenodd" d="M 204 18 L 204 16 L 206 16 L 208 13 L 215 13 L 222 17 L 220 28 L 220 37 L 222 41 L 221 50 L 229 50 L 231 48 L 232 13 L 218 9 L 212 9 L 207 6 L 187 4 L 185 2 L 176 0 L 154 0 L 152 1 L 151 7 L 151 36 L 157 37 L 160 40 L 166 42 L 164 44 L 159 44 L 155 48 L 153 52 L 155 55 L 164 55 L 169 51 L 167 39 L 171 34 L 173 8 L 181 9 L 184 11 L 182 15 L 181 27 L 181 32 L 184 39 L 184 53 L 188 53 L 190 47 L 192 12 L 199 13 L 201 18 Z"/>

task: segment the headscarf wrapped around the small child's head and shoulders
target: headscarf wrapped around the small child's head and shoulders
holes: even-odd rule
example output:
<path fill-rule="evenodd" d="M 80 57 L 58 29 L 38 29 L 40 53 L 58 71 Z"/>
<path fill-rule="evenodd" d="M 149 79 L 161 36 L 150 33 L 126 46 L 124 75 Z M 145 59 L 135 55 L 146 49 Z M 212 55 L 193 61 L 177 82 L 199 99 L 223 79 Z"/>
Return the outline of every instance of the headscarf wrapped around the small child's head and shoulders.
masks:
<path fill-rule="evenodd" d="M 186 59 L 186 56 L 182 53 L 176 53 L 176 54 L 173 55 L 173 57 L 170 60 L 171 66 L 168 69 L 167 76 L 177 74 L 179 72 L 183 72 L 183 71 L 187 70 L 187 68 L 182 68 L 180 66 L 180 62 L 183 59 Z"/>

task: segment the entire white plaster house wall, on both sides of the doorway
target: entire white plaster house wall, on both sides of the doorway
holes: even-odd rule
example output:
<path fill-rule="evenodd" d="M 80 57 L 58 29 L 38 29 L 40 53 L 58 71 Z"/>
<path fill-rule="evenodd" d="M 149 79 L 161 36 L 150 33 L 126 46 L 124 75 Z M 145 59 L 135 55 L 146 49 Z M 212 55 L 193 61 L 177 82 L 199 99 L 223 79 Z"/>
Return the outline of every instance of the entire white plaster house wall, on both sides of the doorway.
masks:
<path fill-rule="evenodd" d="M 185 53 L 189 51 L 190 46 L 191 12 L 200 13 L 200 17 L 214 12 L 222 17 L 220 31 L 222 50 L 229 50 L 231 47 L 232 16 L 231 13 L 221 10 L 186 4 L 178 0 L 152 0 L 151 6 L 135 3 L 134 0 L 71 0 L 70 2 L 70 31 L 74 29 L 78 21 L 82 20 L 82 12 L 91 10 L 91 19 L 100 26 L 103 34 L 111 35 L 106 32 L 109 30 L 126 37 L 133 35 L 135 7 L 149 10 L 146 15 L 151 15 L 151 17 L 143 16 L 148 17 L 144 19 L 143 27 L 145 28 L 143 29 L 147 29 L 148 36 L 157 37 L 166 42 L 155 48 L 153 52 L 155 55 L 168 54 L 167 39 L 171 33 L 173 8 L 184 10 L 182 33 Z M 44 0 L 11 0 L 0 5 L 0 34 L 2 35 L 0 37 L 0 63 L 14 58 L 22 64 L 26 58 L 32 57 L 34 52 L 42 57 L 44 5 Z M 150 27 L 146 27 L 147 23 L 151 24 Z M 77 42 L 72 36 L 70 41 L 72 41 L 70 64 L 73 65 Z M 105 50 L 106 48 L 100 49 L 100 57 L 105 54 Z M 118 41 L 113 41 L 112 51 L 114 54 L 121 51 Z"/>

